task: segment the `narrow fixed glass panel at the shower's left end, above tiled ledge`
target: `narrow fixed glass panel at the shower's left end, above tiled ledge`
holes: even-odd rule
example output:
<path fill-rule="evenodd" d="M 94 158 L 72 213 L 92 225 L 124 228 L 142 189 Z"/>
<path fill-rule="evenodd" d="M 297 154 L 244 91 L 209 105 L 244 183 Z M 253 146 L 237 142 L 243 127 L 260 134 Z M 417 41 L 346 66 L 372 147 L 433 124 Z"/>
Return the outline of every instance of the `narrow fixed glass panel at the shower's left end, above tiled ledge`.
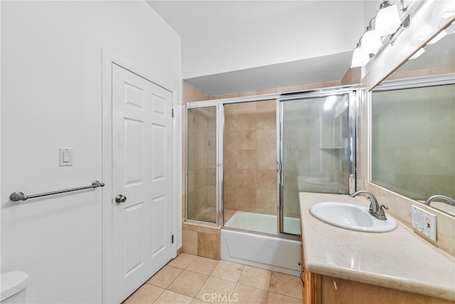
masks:
<path fill-rule="evenodd" d="M 187 219 L 216 224 L 217 107 L 188 109 Z"/>

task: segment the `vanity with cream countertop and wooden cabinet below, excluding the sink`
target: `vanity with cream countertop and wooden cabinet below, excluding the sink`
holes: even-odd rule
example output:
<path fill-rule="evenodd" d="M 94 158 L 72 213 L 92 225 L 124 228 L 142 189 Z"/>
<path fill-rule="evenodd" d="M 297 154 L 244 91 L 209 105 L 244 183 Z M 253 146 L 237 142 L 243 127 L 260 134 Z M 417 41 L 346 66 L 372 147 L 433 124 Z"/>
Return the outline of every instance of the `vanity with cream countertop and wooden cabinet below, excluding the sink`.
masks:
<path fill-rule="evenodd" d="M 407 226 L 352 231 L 309 213 L 323 201 L 369 206 L 367 199 L 301 192 L 299 200 L 305 304 L 455 303 L 455 258 Z"/>

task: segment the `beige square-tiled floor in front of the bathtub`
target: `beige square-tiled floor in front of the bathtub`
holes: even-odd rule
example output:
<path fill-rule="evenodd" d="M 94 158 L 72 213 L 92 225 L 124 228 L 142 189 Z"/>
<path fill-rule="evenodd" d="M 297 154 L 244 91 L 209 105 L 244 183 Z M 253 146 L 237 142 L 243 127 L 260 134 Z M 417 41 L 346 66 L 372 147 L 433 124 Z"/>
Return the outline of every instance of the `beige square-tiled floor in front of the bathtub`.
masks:
<path fill-rule="evenodd" d="M 136 290 L 132 303 L 302 303 L 299 277 L 181 253 Z"/>

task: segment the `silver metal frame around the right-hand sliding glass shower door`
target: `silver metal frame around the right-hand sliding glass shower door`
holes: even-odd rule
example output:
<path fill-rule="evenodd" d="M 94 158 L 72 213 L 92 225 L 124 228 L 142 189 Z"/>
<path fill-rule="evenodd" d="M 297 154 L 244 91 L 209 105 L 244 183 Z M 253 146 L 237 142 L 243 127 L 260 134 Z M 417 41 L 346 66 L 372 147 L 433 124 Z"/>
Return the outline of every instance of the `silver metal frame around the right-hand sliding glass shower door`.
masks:
<path fill-rule="evenodd" d="M 360 88 L 358 85 L 341 86 L 335 88 L 324 88 L 321 90 L 311 90 L 301 93 L 283 94 L 277 98 L 277 230 L 279 235 L 294 236 L 284 232 L 284 204 L 283 204 L 283 187 L 284 187 L 284 170 L 283 170 L 283 157 L 284 157 L 284 144 L 283 144 L 283 104 L 289 100 L 310 99 L 310 98 L 324 98 L 331 95 L 348 94 L 348 128 L 349 128 L 349 194 L 353 194 L 356 189 L 356 152 L 357 152 L 357 130 L 356 130 L 356 110 L 358 108 Z"/>

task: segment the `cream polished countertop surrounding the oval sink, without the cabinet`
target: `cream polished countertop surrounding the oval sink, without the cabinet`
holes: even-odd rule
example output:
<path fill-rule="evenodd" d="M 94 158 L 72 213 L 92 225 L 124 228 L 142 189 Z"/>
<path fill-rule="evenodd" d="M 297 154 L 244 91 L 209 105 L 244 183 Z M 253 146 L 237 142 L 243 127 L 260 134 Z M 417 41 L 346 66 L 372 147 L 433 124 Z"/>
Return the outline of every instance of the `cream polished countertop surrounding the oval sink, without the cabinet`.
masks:
<path fill-rule="evenodd" d="M 299 199 L 305 266 L 312 273 L 455 300 L 455 258 L 399 221 L 393 231 L 368 233 L 331 226 L 309 213 L 322 201 L 369 206 L 368 200 L 306 192 Z"/>

